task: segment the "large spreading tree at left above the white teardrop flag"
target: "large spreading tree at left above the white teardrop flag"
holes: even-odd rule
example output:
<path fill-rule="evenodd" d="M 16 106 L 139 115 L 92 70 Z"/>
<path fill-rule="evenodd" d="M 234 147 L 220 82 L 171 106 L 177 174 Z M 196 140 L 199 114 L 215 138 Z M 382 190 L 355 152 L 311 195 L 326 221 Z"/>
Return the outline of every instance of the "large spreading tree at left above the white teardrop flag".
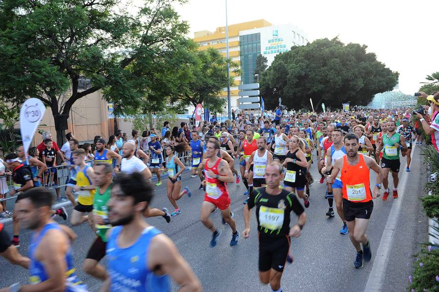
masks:
<path fill-rule="evenodd" d="M 163 95 L 151 94 L 158 93 L 151 72 L 187 44 L 188 25 L 173 2 L 181 1 L 145 0 L 132 12 L 115 0 L 1 1 L 1 98 L 18 105 L 37 97 L 62 121 L 100 89 L 116 115 L 162 104 Z M 173 75 L 180 63 L 169 67 Z M 85 78 L 90 86 L 81 90 Z M 56 130 L 62 144 L 64 131 Z"/>

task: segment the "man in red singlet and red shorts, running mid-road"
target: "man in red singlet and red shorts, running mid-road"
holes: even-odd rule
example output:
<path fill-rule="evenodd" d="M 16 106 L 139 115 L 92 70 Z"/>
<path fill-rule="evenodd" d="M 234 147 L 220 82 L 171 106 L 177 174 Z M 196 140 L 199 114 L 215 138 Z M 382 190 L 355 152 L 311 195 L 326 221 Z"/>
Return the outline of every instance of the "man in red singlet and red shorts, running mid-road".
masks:
<path fill-rule="evenodd" d="M 247 131 L 248 132 L 248 131 Z M 232 229 L 232 240 L 230 245 L 238 244 L 239 233 L 236 230 L 235 221 L 231 217 L 230 197 L 227 189 L 227 182 L 233 182 L 233 174 L 225 160 L 218 157 L 220 142 L 211 139 L 207 142 L 206 159 L 203 159 L 199 168 L 204 168 L 206 186 L 204 201 L 201 205 L 200 220 L 211 232 L 212 240 L 210 246 L 214 247 L 218 243 L 221 231 L 217 230 L 209 219 L 209 215 L 218 208 L 221 210 L 222 218 Z"/>

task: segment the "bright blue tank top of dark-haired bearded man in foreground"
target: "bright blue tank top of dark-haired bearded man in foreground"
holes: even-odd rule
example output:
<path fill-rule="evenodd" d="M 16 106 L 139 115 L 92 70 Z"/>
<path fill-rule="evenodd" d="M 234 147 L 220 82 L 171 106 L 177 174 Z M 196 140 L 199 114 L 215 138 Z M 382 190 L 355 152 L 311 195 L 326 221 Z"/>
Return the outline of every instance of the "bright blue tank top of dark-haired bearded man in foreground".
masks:
<path fill-rule="evenodd" d="M 168 275 L 156 275 L 147 267 L 148 250 L 151 239 L 160 230 L 146 227 L 139 239 L 130 247 L 120 248 L 117 239 L 122 226 L 116 226 L 108 238 L 106 258 L 108 274 L 111 277 L 111 292 L 151 292 L 169 291 Z"/>

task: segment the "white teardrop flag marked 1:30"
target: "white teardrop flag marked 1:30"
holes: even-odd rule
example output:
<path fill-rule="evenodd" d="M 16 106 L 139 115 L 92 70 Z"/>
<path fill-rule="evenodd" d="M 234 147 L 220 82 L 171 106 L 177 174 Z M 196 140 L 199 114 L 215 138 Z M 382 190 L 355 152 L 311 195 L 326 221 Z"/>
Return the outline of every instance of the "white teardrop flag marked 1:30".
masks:
<path fill-rule="evenodd" d="M 37 131 L 38 125 L 40 124 L 45 111 L 46 107 L 38 98 L 29 98 L 21 106 L 20 133 L 26 158 L 32 138 Z"/>

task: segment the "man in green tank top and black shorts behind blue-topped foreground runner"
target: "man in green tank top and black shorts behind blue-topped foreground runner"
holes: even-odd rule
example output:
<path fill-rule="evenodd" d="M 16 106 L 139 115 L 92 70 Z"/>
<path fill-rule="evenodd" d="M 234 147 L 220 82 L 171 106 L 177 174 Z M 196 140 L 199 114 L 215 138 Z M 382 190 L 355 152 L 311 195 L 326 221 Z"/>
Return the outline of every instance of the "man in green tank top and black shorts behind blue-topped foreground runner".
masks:
<path fill-rule="evenodd" d="M 99 261 L 105 256 L 106 233 L 111 228 L 108 222 L 107 202 L 110 199 L 111 187 L 113 186 L 113 169 L 109 164 L 98 162 L 94 166 L 94 171 L 93 181 L 98 188 L 93 201 L 92 223 L 98 236 L 85 257 L 82 270 L 98 279 L 105 280 L 108 274 L 105 268 L 99 264 Z"/>

